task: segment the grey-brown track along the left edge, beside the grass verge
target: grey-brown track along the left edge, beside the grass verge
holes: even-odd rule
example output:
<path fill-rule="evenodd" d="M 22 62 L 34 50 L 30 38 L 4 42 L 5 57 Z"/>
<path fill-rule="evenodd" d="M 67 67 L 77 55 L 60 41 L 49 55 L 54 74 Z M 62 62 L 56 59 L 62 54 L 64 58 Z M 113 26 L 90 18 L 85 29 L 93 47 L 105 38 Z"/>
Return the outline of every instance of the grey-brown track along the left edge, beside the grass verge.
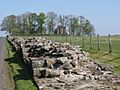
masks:
<path fill-rule="evenodd" d="M 5 38 L 0 37 L 0 90 L 14 90 L 11 86 L 6 58 Z"/>

